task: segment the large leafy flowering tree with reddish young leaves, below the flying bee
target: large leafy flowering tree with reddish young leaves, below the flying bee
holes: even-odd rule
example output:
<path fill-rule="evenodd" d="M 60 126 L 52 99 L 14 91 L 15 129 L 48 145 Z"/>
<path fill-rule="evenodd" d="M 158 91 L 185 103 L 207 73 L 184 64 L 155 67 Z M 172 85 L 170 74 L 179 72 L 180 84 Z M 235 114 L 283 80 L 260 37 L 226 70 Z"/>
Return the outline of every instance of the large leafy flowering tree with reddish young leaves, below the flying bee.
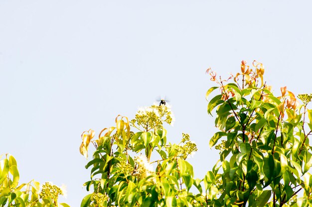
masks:
<path fill-rule="evenodd" d="M 90 143 L 95 151 L 86 165 L 91 180 L 84 184 L 92 193 L 81 206 L 311 206 L 312 95 L 299 95 L 300 104 L 282 87 L 276 97 L 264 82 L 263 65 L 253 66 L 242 61 L 241 73 L 227 80 L 207 70 L 218 85 L 207 91 L 207 100 L 219 90 L 207 110 L 216 114 L 219 131 L 209 145 L 220 159 L 203 179 L 194 178 L 186 161 L 197 150 L 189 135 L 167 143 L 163 122 L 170 124 L 173 115 L 166 105 L 140 109 L 131 121 L 118 115 L 116 126 L 96 140 L 93 130 L 83 132 L 80 153 L 87 158 Z"/>

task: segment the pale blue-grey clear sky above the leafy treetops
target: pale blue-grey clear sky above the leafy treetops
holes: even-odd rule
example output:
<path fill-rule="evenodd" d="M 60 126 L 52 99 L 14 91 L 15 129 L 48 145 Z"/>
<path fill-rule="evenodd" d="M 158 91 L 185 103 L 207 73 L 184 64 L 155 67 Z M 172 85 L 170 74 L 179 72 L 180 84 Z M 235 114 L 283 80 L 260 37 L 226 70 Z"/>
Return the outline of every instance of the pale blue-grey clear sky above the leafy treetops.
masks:
<path fill-rule="evenodd" d="M 0 0 L 0 154 L 17 160 L 20 183 L 67 186 L 80 206 L 90 179 L 81 133 L 96 136 L 118 114 L 168 97 L 167 140 L 189 133 L 188 159 L 203 178 L 218 159 L 207 114 L 205 71 L 264 64 L 276 95 L 312 93 L 309 0 Z M 90 149 L 93 150 L 92 148 Z M 91 156 L 91 153 L 89 154 Z M 90 161 L 90 158 L 89 158 Z"/>

